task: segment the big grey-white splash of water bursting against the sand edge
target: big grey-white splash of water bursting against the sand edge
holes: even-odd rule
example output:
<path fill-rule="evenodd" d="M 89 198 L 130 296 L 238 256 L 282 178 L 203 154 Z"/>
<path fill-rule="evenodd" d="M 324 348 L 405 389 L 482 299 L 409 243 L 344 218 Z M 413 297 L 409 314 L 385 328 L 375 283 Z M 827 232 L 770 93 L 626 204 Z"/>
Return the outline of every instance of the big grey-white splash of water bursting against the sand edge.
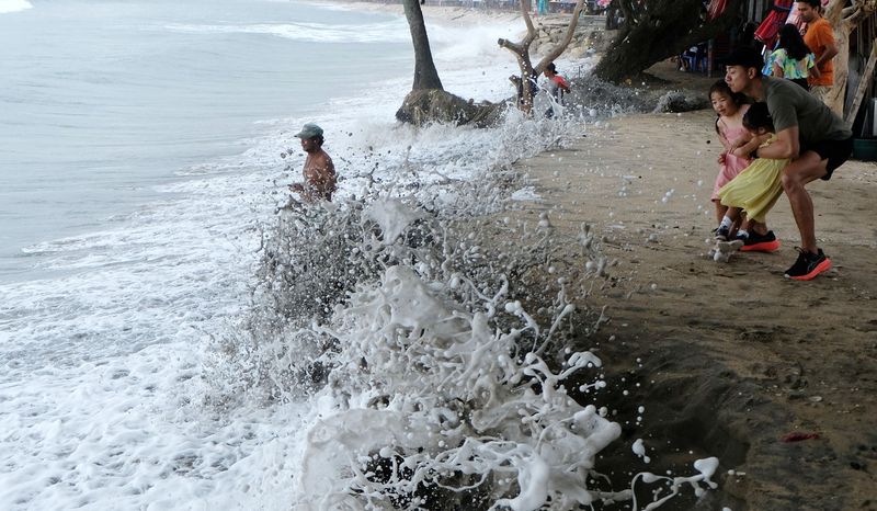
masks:
<path fill-rule="evenodd" d="M 281 208 L 252 311 L 216 341 L 215 404 L 312 404 L 295 509 L 634 499 L 633 484 L 589 482 L 620 435 L 584 398 L 606 384 L 577 339 L 606 321 L 588 304 L 612 265 L 597 236 L 519 218 L 515 178 L 428 179 L 433 162 L 410 151 L 400 164 L 409 172 L 369 179 L 360 197 Z M 701 472 L 685 479 L 698 491 Z"/>

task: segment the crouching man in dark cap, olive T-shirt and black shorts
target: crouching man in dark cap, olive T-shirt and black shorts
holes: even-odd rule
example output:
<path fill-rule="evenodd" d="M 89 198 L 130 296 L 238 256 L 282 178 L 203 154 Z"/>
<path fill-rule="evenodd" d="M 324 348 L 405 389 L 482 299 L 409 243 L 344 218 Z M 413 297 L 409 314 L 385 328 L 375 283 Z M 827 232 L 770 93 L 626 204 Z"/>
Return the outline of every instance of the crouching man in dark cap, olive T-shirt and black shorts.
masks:
<path fill-rule="evenodd" d="M 828 181 L 834 170 L 853 152 L 853 132 L 824 103 L 788 80 L 764 77 L 764 60 L 750 47 L 738 48 L 725 59 L 726 75 L 733 92 L 742 92 L 755 101 L 767 103 L 776 128 L 776 140 L 759 147 L 755 157 L 784 159 L 791 162 L 783 169 L 783 191 L 801 237 L 798 259 L 785 276 L 809 281 L 831 269 L 831 260 L 817 246 L 813 202 L 805 186 L 817 179 Z M 768 136 L 764 136 L 764 140 Z M 740 139 L 734 146 L 749 140 Z M 770 234 L 767 226 L 752 224 L 754 242 Z M 753 234 L 750 234 L 753 237 Z"/>

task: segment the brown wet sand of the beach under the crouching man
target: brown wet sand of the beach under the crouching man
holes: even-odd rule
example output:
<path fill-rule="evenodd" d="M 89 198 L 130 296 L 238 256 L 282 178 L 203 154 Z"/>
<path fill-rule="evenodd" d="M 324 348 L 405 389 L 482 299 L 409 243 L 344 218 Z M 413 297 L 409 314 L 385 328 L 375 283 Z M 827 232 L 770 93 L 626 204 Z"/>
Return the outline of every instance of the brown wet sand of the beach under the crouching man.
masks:
<path fill-rule="evenodd" d="M 659 66 L 662 78 L 682 80 L 670 88 L 705 91 L 715 80 L 669 69 Z M 877 164 L 851 160 L 808 186 L 828 273 L 783 277 L 799 243 L 785 196 L 767 217 L 777 252 L 717 263 L 713 120 L 614 118 L 516 166 L 542 196 L 522 215 L 547 212 L 570 237 L 592 224 L 617 260 L 591 298 L 612 319 L 581 342 L 603 357 L 618 417 L 646 411 L 641 425 L 623 424 L 604 464 L 686 475 L 693 459 L 718 456 L 720 488 L 697 509 L 877 509 Z M 794 432 L 818 438 L 782 441 Z M 640 438 L 648 465 L 630 452 Z"/>

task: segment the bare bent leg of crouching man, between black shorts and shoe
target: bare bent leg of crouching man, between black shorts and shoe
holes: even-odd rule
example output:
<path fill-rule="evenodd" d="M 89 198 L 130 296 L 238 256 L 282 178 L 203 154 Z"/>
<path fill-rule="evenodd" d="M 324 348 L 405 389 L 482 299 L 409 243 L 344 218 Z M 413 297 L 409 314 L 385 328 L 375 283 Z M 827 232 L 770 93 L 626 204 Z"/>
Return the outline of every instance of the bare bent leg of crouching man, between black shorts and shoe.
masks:
<path fill-rule="evenodd" d="M 827 164 L 828 159 L 823 160 L 815 151 L 807 151 L 783 169 L 783 190 L 801 235 L 801 249 L 809 253 L 817 253 L 818 247 L 813 226 L 813 201 L 805 186 L 825 175 Z"/>

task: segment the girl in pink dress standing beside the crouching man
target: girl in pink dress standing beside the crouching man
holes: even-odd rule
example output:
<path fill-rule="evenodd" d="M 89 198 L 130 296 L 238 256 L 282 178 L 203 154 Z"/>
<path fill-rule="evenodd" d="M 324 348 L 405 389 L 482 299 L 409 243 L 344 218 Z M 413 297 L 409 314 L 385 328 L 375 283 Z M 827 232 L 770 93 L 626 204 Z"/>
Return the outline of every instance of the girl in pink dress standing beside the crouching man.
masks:
<path fill-rule="evenodd" d="M 748 158 L 734 156 L 730 150 L 731 143 L 747 136 L 747 128 L 743 127 L 743 114 L 749 110 L 749 105 L 744 103 L 742 94 L 731 92 L 725 80 L 719 80 L 709 88 L 709 101 L 718 115 L 716 133 L 719 134 L 719 141 L 724 146 L 718 159 L 719 174 L 716 177 L 713 195 L 709 198 L 716 205 L 716 224 L 718 225 L 728 211 L 728 206 L 722 206 L 719 201 L 719 189 L 734 179 L 750 163 Z"/>

